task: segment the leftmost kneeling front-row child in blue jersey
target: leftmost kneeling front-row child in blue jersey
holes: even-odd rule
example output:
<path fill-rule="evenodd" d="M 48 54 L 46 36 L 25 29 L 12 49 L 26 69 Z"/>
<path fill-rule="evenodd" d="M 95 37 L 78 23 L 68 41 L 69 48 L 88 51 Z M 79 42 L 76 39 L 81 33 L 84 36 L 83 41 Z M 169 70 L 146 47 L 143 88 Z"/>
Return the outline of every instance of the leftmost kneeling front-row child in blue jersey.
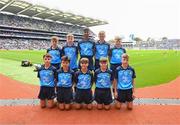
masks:
<path fill-rule="evenodd" d="M 51 66 L 51 55 L 43 56 L 44 65 L 38 69 L 38 78 L 40 80 L 40 92 L 38 98 L 40 99 L 41 108 L 54 107 L 55 98 L 55 78 L 56 68 Z"/>

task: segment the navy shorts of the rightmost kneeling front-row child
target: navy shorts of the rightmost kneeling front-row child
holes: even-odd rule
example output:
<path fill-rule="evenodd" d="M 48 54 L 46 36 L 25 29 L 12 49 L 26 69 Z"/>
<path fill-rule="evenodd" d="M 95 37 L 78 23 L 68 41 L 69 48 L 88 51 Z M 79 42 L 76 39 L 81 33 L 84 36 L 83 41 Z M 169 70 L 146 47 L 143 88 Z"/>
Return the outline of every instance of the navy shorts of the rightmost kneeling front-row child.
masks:
<path fill-rule="evenodd" d="M 121 103 L 132 102 L 133 101 L 133 91 L 132 91 L 132 89 L 127 89 L 127 90 L 118 89 L 117 101 L 119 101 Z"/>

